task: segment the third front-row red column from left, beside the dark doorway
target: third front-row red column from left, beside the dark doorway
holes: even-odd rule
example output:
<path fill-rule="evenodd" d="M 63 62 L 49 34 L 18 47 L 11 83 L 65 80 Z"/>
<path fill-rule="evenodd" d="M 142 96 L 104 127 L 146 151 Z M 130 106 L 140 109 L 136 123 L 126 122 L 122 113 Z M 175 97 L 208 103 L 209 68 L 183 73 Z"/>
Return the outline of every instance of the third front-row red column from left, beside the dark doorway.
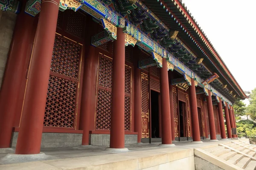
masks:
<path fill-rule="evenodd" d="M 162 144 L 172 144 L 169 81 L 165 59 L 163 59 L 163 68 L 160 68 L 160 92 Z"/>

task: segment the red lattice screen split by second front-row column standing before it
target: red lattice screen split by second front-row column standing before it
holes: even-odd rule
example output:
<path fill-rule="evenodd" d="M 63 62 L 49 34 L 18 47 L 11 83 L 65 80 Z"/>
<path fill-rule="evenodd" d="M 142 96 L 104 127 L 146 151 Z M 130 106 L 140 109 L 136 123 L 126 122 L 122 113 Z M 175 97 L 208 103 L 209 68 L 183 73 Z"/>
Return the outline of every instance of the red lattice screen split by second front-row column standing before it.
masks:
<path fill-rule="evenodd" d="M 100 54 L 98 72 L 98 94 L 96 107 L 96 129 L 110 130 L 111 88 L 113 62 Z M 125 66 L 125 130 L 130 130 L 131 122 L 131 67 Z"/>

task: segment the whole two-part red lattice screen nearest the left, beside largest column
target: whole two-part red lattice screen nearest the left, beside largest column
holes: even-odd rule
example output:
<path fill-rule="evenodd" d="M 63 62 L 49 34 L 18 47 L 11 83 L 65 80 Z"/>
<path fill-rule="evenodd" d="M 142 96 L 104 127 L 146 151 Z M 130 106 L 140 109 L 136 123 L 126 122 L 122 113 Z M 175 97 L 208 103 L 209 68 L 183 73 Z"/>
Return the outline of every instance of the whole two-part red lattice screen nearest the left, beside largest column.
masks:
<path fill-rule="evenodd" d="M 44 126 L 75 126 L 80 58 L 80 45 L 55 36 Z"/>

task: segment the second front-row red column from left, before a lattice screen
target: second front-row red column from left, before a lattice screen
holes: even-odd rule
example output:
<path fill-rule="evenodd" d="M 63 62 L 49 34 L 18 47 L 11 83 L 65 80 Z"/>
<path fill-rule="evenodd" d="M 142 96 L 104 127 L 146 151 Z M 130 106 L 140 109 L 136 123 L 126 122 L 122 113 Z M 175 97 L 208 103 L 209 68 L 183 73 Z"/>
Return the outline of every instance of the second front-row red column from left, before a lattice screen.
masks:
<path fill-rule="evenodd" d="M 125 33 L 114 41 L 110 148 L 125 148 Z"/>

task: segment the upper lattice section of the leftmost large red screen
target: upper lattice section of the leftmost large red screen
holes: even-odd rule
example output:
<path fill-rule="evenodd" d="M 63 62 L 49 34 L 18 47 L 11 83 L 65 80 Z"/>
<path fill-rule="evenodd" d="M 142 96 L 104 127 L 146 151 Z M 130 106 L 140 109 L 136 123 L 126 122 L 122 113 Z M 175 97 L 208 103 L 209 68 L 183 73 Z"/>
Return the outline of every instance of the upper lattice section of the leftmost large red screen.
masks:
<path fill-rule="evenodd" d="M 51 71 L 78 78 L 80 46 L 55 36 Z"/>

